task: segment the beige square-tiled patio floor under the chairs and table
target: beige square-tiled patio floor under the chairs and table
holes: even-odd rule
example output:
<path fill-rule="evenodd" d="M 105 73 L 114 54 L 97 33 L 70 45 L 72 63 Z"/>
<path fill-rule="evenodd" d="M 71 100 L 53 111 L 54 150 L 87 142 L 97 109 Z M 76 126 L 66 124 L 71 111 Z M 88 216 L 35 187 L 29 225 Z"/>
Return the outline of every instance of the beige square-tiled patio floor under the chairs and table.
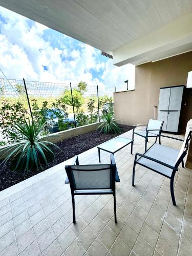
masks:
<path fill-rule="evenodd" d="M 131 133 L 121 136 L 131 137 Z M 153 142 L 150 139 L 148 146 Z M 167 138 L 162 144 L 181 146 Z M 177 207 L 173 206 L 169 180 L 151 170 L 138 165 L 132 187 L 134 155 L 143 150 L 144 140 L 136 135 L 133 155 L 130 145 L 115 154 L 120 176 L 117 224 L 110 195 L 76 196 L 77 222 L 72 223 L 65 163 L 19 184 L 16 194 L 13 187 L 2 191 L 1 198 L 9 197 L 0 202 L 0 255 L 192 255 L 191 170 L 180 168 L 177 173 Z M 79 159 L 98 163 L 97 149 Z M 102 163 L 109 160 L 109 154 L 101 152 Z"/>

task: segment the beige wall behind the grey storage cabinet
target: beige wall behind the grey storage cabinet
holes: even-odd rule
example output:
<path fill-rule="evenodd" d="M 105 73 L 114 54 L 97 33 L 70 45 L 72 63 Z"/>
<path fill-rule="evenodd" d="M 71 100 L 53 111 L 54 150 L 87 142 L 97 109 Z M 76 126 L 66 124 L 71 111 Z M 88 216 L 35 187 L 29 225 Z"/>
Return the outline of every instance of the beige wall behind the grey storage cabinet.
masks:
<path fill-rule="evenodd" d="M 154 118 L 154 105 L 158 106 L 161 87 L 186 84 L 192 70 L 192 51 L 156 62 L 139 65 L 135 69 L 135 90 L 114 93 L 115 118 L 119 123 L 146 124 Z M 186 89 L 182 104 L 180 131 L 192 119 L 192 89 Z M 155 110 L 155 117 L 157 117 Z"/>

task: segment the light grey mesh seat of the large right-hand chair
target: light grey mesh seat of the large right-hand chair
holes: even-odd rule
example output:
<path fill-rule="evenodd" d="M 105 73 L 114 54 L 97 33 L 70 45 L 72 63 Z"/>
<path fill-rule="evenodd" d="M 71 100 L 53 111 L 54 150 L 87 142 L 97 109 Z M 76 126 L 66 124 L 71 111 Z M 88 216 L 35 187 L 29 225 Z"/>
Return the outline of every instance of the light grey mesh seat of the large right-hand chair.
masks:
<path fill-rule="evenodd" d="M 176 150 L 175 148 L 164 146 L 161 144 L 153 144 L 152 147 L 144 154 L 147 157 L 154 158 L 158 161 L 164 162 L 166 164 L 169 164 L 171 166 L 175 166 L 175 163 L 177 161 L 179 150 Z M 138 160 L 138 163 L 156 170 L 157 172 L 166 175 L 168 177 L 172 176 L 173 169 L 170 169 L 162 164 L 159 164 L 157 162 L 154 162 L 152 160 L 146 159 L 144 157 L 141 157 Z"/>

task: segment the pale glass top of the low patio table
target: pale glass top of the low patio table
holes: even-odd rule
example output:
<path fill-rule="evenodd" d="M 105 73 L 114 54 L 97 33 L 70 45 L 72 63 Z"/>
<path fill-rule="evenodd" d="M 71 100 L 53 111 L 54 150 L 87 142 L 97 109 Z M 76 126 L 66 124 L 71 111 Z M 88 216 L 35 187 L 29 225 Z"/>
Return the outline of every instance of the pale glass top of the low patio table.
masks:
<path fill-rule="evenodd" d="M 122 147 L 130 144 L 133 140 L 124 137 L 115 137 L 114 139 L 108 140 L 97 147 L 101 150 L 108 151 L 110 153 L 115 153 Z"/>

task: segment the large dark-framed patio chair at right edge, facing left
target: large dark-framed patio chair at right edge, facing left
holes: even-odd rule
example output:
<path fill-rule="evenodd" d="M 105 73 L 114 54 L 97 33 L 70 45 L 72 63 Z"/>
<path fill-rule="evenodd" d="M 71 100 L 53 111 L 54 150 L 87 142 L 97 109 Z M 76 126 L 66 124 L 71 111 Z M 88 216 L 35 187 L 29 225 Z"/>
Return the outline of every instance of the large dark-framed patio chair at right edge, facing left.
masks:
<path fill-rule="evenodd" d="M 185 140 L 161 135 L 162 137 L 183 141 L 181 150 L 154 143 L 143 155 L 137 153 L 133 166 L 132 185 L 135 185 L 135 166 L 136 164 L 140 164 L 170 179 L 170 194 L 172 196 L 173 205 L 176 205 L 174 195 L 174 177 L 180 163 L 182 163 L 182 167 L 184 168 L 183 159 L 187 154 L 191 133 L 192 131 L 189 131 Z M 139 159 L 137 159 L 138 156 Z"/>

